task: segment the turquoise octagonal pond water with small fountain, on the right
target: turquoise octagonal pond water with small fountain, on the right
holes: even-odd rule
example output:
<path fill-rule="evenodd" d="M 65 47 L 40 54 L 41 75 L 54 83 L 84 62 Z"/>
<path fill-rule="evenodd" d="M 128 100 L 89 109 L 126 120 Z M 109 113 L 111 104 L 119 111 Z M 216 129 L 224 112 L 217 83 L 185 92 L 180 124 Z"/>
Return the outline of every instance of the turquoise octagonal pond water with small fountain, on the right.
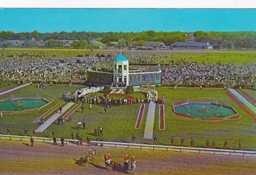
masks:
<path fill-rule="evenodd" d="M 189 103 L 174 106 L 176 112 L 196 118 L 225 118 L 236 112 L 224 106 L 214 104 Z"/>

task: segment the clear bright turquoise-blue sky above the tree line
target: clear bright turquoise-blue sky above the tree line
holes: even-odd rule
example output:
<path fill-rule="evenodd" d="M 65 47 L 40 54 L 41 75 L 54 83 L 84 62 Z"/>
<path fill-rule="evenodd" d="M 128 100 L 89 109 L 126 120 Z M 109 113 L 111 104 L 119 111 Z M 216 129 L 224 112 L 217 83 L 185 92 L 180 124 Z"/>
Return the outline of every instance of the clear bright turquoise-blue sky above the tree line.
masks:
<path fill-rule="evenodd" d="M 0 9 L 13 32 L 256 31 L 255 9 Z"/>

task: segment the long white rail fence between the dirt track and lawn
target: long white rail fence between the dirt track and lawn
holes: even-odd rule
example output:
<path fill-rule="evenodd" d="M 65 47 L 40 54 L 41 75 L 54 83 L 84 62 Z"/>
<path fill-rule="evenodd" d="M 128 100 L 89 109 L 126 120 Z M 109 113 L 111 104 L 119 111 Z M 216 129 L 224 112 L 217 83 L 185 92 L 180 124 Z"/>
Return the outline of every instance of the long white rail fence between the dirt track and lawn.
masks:
<path fill-rule="evenodd" d="M 0 134 L 1 140 L 11 141 L 30 141 L 31 137 L 28 136 L 16 136 L 16 135 L 3 135 Z M 33 137 L 35 142 L 53 143 L 52 138 L 44 137 Z M 64 143 L 76 143 L 78 140 L 64 139 Z M 60 139 L 57 138 L 57 143 L 60 143 Z M 176 147 L 176 146 L 165 146 L 165 145 L 147 145 L 137 143 L 120 143 L 120 142 L 108 142 L 108 141 L 91 141 L 92 145 L 98 143 L 103 144 L 103 147 L 110 148 L 126 148 L 126 149 L 144 149 L 152 151 L 172 151 L 181 153 L 196 153 L 196 154 L 211 154 L 211 155 L 224 155 L 224 156 L 244 156 L 244 157 L 255 157 L 256 151 L 242 151 L 242 150 L 231 150 L 231 149 L 212 149 L 212 148 L 190 148 L 190 147 Z"/>

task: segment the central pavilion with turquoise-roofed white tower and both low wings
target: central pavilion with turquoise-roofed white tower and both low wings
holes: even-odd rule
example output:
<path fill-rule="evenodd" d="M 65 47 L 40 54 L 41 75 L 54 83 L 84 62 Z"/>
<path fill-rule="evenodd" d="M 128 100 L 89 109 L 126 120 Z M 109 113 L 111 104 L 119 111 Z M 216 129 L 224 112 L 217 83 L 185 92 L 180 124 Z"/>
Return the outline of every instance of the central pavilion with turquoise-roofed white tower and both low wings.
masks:
<path fill-rule="evenodd" d="M 88 83 L 94 85 L 111 85 L 113 82 L 124 82 L 127 86 L 161 84 L 160 69 L 152 72 L 129 70 L 129 61 L 123 55 L 115 58 L 113 70 L 89 70 L 87 75 Z"/>

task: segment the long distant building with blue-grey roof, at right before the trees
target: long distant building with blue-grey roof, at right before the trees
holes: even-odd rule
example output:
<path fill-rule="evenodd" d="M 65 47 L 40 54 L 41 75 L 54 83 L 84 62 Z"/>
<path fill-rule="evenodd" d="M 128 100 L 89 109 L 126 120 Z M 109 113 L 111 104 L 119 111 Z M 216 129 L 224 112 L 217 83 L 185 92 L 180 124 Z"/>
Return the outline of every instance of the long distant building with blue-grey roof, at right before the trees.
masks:
<path fill-rule="evenodd" d="M 213 49 L 208 42 L 175 42 L 170 45 L 172 49 Z"/>

